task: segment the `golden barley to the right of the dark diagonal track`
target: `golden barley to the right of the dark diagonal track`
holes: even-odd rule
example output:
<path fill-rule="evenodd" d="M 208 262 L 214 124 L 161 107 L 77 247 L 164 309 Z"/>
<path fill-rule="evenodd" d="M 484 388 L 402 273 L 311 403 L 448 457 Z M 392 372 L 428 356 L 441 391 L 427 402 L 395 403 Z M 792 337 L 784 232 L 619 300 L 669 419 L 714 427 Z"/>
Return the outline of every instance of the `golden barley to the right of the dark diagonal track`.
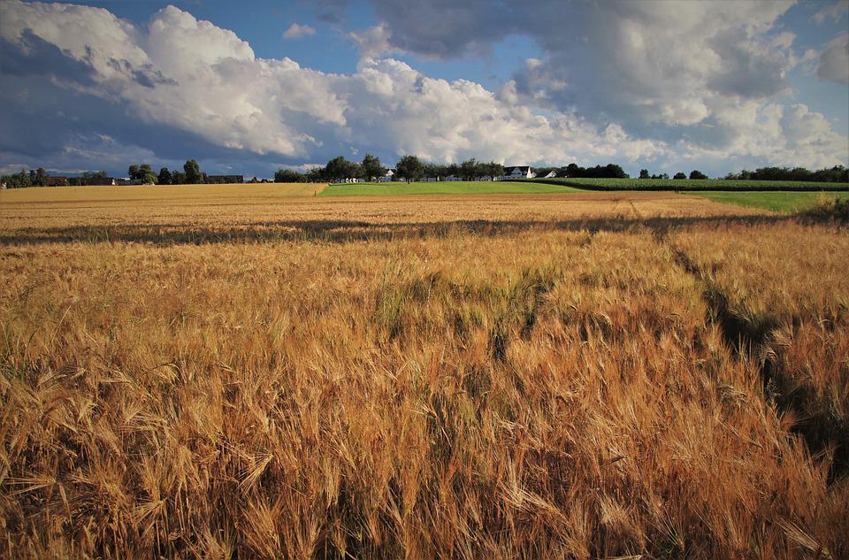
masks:
<path fill-rule="evenodd" d="M 849 236 L 796 224 L 677 235 L 816 452 L 849 468 Z"/>

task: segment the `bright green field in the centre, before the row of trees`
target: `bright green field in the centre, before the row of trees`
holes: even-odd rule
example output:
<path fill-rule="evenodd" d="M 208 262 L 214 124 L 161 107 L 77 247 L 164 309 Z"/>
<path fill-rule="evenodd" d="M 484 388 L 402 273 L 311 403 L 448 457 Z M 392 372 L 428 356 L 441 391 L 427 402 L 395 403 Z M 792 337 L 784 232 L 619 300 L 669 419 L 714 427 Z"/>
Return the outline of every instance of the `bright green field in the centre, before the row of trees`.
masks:
<path fill-rule="evenodd" d="M 576 193 L 565 185 L 515 181 L 436 181 L 392 183 L 337 183 L 328 185 L 318 196 L 391 195 L 522 195 L 534 193 Z"/>

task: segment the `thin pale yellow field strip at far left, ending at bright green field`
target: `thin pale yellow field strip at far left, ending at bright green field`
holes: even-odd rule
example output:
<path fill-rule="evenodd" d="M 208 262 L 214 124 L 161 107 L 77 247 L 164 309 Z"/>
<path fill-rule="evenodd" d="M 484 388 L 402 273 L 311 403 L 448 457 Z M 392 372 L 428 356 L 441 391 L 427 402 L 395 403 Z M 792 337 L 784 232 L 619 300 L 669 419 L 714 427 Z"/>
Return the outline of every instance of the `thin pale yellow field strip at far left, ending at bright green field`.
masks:
<path fill-rule="evenodd" d="M 4 203 L 162 202 L 226 203 L 250 198 L 313 196 L 324 183 L 239 183 L 229 185 L 134 185 L 129 187 L 30 187 L 0 190 Z"/>

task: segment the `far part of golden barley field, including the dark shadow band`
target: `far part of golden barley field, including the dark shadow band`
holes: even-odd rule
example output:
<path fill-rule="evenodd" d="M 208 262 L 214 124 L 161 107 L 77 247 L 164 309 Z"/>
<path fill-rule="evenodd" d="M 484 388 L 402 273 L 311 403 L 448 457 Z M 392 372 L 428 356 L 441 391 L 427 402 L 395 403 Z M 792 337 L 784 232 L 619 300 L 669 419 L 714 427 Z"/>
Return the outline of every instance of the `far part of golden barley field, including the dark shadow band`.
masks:
<path fill-rule="evenodd" d="M 325 240 L 359 238 L 375 230 L 381 235 L 406 235 L 452 227 L 488 227 L 486 224 L 499 230 L 550 224 L 580 229 L 602 226 L 601 222 L 608 219 L 613 220 L 612 227 L 627 228 L 646 219 L 677 223 L 681 219 L 742 219 L 766 214 L 759 209 L 669 192 L 570 189 L 558 193 L 547 189 L 542 193 L 480 196 L 285 196 L 293 187 L 301 186 L 3 191 L 0 244 Z M 195 196 L 177 197 L 192 189 L 196 189 Z M 118 193 L 130 196 L 115 198 Z M 37 196 L 42 200 L 34 200 Z"/>

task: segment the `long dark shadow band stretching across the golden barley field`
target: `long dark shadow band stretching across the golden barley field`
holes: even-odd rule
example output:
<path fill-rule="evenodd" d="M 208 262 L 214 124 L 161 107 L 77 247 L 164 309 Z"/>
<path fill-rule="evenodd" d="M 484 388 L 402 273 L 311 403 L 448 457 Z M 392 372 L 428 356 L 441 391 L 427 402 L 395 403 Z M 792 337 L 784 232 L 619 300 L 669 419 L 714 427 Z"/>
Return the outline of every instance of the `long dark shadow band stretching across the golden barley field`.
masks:
<path fill-rule="evenodd" d="M 577 218 L 564 220 L 455 220 L 450 222 L 373 223 L 358 220 L 272 220 L 238 226 L 188 224 L 71 226 L 23 229 L 0 233 L 0 245 L 72 242 L 141 242 L 182 245 L 232 242 L 315 241 L 352 242 L 446 237 L 455 234 L 501 235 L 524 231 L 623 232 L 647 228 L 663 236 L 689 226 L 774 224 L 799 219 L 790 215 L 726 215 L 669 218 Z"/>

